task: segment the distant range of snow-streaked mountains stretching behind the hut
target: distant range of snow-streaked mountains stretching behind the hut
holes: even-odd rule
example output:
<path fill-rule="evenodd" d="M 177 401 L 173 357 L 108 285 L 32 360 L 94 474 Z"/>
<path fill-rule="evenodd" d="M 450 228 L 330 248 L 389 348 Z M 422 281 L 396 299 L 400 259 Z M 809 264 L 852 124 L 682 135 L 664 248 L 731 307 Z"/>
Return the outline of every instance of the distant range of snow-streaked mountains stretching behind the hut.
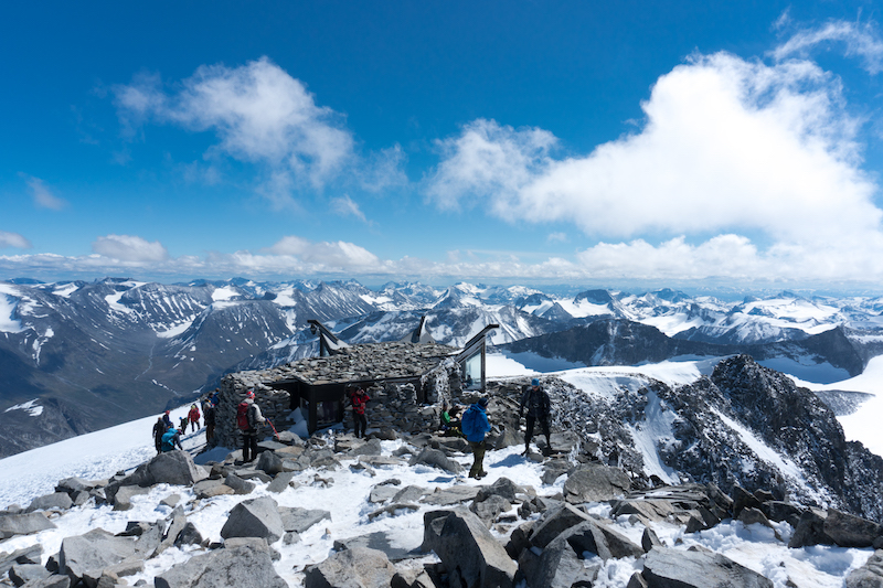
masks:
<path fill-rule="evenodd" d="M 353 280 L 7 281 L 0 456 L 191 402 L 231 371 L 312 355 L 309 319 L 353 343 L 401 339 L 426 316 L 439 343 L 461 345 L 498 323 L 490 341 L 507 353 L 586 365 L 748 353 L 848 377 L 883 353 L 881 313 L 880 298 L 789 292 L 727 303 L 668 289 L 561 297 L 469 284 L 371 290 Z"/>

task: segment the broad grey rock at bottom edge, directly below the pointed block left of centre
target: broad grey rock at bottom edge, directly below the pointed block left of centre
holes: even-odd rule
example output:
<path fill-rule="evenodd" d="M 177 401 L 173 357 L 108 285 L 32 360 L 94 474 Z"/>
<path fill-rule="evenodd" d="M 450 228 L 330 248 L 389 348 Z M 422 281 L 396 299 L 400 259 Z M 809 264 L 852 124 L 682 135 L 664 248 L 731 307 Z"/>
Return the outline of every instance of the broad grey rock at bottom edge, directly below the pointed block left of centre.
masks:
<path fill-rule="evenodd" d="M 156 588 L 287 588 L 268 549 L 244 544 L 215 549 L 173 566 L 153 580 Z"/>

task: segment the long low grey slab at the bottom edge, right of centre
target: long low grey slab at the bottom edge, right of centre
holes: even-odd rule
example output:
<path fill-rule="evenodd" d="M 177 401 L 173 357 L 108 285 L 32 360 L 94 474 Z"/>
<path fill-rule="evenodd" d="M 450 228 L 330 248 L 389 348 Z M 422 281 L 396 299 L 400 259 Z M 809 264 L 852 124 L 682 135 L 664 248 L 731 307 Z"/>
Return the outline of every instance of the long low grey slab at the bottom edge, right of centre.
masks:
<path fill-rule="evenodd" d="M 773 588 L 773 582 L 721 554 L 655 547 L 641 573 L 648 588 L 738 586 Z"/>

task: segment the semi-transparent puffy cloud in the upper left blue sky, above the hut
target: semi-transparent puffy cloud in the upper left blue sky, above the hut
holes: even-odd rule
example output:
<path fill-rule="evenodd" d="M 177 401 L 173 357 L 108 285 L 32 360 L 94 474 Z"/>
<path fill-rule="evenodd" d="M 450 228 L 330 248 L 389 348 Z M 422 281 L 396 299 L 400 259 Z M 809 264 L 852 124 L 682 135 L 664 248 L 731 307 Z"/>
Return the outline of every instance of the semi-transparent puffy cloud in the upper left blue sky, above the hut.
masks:
<path fill-rule="evenodd" d="M 238 67 L 203 65 L 167 93 L 156 75 L 139 75 L 114 88 L 119 117 L 134 127 L 148 120 L 213 131 L 208 157 L 226 156 L 264 168 L 259 183 L 277 207 L 296 189 L 320 190 L 348 177 L 369 190 L 401 183 L 401 148 L 368 158 L 357 153 L 344 117 L 318 106 L 315 96 L 267 57 Z"/>

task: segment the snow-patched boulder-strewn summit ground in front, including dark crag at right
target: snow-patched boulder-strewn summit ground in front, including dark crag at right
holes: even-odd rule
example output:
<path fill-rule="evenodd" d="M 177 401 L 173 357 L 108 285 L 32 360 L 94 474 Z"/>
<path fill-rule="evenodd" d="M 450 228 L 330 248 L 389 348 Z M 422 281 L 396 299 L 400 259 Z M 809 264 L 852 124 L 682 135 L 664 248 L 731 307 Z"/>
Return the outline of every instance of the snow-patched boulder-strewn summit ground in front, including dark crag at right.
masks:
<path fill-rule="evenodd" d="M 747 356 L 675 389 L 617 382 L 588 394 L 543 378 L 551 445 L 540 436 L 526 453 L 525 382 L 492 383 L 480 481 L 464 477 L 461 437 L 376 428 L 280 436 L 248 463 L 233 449 L 177 450 L 109 479 L 60 480 L 0 514 L 2 581 L 883 585 L 879 460 L 842 439 L 817 397 Z"/>

